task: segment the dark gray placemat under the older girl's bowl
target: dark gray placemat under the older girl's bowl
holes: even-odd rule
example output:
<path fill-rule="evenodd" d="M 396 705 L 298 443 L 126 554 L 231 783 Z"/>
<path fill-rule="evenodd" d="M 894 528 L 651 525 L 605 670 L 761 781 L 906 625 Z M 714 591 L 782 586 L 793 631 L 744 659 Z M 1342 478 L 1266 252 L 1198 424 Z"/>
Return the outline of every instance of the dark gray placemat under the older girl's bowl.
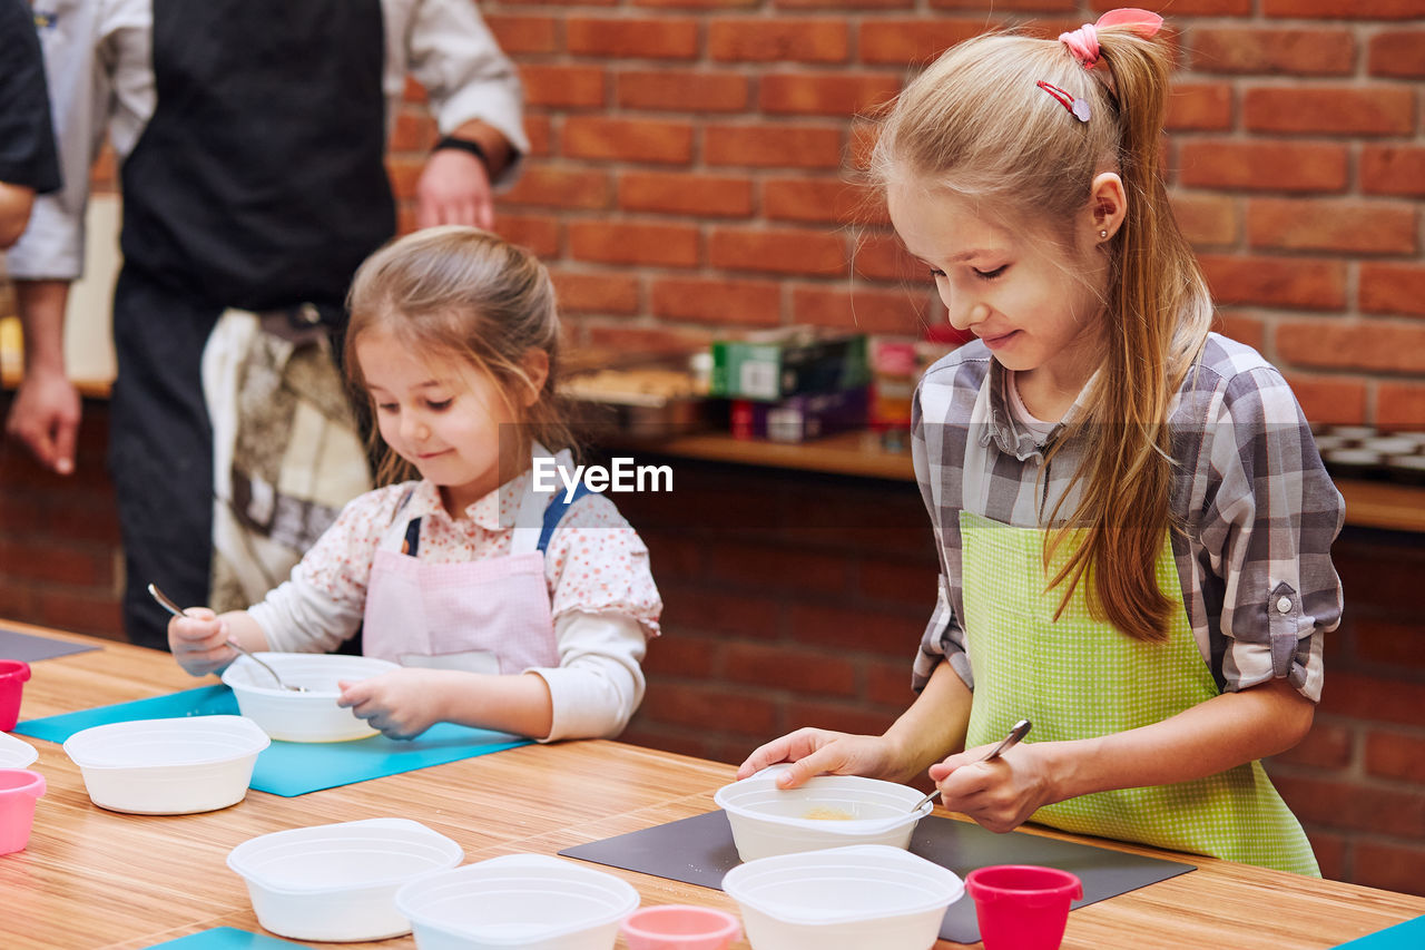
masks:
<path fill-rule="evenodd" d="M 979 824 L 939 816 L 922 819 L 916 824 L 911 853 L 948 867 L 962 879 L 988 864 L 1040 864 L 1073 872 L 1083 882 L 1083 899 L 1076 900 L 1073 907 L 1196 870 L 1193 864 L 1040 834 L 995 834 Z M 708 812 L 601 842 L 576 844 L 560 854 L 717 889 L 721 889 L 722 874 L 738 864 L 732 827 L 724 812 Z M 975 920 L 975 903 L 969 897 L 955 902 L 945 911 L 940 937 L 955 943 L 979 943 L 979 921 Z"/>

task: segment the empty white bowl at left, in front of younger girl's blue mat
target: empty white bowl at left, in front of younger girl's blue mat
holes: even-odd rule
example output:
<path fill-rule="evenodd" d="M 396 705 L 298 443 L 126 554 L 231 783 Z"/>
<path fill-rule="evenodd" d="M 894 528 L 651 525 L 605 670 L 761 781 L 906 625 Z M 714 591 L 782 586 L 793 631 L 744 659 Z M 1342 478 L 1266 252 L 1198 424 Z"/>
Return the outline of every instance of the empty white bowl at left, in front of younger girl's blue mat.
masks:
<path fill-rule="evenodd" d="M 241 802 L 269 745 L 251 719 L 191 716 L 81 729 L 64 740 L 64 752 L 101 809 L 191 814 Z"/>

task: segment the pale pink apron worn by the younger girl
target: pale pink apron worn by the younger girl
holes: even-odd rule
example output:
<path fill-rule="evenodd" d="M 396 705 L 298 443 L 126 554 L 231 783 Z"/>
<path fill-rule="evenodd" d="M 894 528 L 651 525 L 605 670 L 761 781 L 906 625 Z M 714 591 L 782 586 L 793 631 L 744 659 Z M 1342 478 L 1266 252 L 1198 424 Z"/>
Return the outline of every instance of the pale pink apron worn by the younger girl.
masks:
<path fill-rule="evenodd" d="M 563 452 L 560 454 L 564 455 Z M 560 462 L 564 459 L 560 458 Z M 514 518 L 510 553 L 465 563 L 416 559 L 420 519 L 398 516 L 366 586 L 362 652 L 402 666 L 522 673 L 559 666 L 544 581 L 544 546 L 569 502 L 530 488 Z M 402 553 L 408 545 L 409 553 Z"/>

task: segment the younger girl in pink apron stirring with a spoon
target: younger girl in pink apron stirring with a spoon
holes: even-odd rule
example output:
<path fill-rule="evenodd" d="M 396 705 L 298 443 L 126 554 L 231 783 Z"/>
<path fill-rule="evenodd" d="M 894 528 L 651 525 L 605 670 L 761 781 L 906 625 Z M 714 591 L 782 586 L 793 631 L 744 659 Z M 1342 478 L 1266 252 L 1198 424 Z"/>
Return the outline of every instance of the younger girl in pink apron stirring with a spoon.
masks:
<path fill-rule="evenodd" d="M 366 655 L 405 669 L 345 683 L 339 702 L 388 736 L 437 722 L 617 735 L 663 605 L 611 501 L 536 491 L 536 462 L 546 485 L 549 466 L 571 471 L 550 455 L 570 439 L 544 267 L 477 228 L 428 228 L 368 258 L 348 304 L 345 362 L 389 484 L 346 505 L 261 603 L 174 618 L 174 656 L 202 676 L 235 659 L 228 638 L 323 652 L 361 629 Z"/>

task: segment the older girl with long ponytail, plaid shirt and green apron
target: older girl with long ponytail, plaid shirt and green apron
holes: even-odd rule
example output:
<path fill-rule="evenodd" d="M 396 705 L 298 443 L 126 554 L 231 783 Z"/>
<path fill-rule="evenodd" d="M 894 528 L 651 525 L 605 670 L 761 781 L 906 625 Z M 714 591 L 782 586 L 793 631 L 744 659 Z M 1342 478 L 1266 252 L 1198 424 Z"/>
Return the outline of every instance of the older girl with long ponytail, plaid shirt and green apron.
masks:
<path fill-rule="evenodd" d="M 885 117 L 891 221 L 978 337 L 915 399 L 942 568 L 919 696 L 882 736 L 801 729 L 740 775 L 928 770 L 996 832 L 1318 874 L 1260 759 L 1311 727 L 1344 506 L 1281 374 L 1210 332 L 1163 184 L 1160 27 L 978 37 Z"/>

